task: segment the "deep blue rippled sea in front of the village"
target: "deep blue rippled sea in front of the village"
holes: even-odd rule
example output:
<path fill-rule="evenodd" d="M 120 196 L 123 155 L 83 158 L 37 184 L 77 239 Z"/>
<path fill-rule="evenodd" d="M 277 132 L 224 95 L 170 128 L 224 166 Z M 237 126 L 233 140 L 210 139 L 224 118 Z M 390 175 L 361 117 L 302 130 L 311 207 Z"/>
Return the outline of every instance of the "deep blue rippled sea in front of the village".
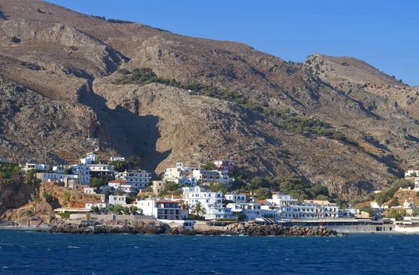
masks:
<path fill-rule="evenodd" d="M 0 274 L 419 274 L 419 236 L 186 237 L 0 230 Z"/>

